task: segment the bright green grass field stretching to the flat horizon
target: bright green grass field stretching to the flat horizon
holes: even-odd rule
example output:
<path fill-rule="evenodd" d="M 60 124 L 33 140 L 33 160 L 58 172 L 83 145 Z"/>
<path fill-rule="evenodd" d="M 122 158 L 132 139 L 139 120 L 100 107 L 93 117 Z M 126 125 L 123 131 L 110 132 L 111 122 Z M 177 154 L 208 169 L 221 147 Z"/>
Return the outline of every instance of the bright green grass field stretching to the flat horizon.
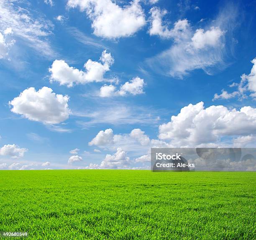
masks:
<path fill-rule="evenodd" d="M 2 170 L 0 190 L 26 239 L 256 239 L 256 172 Z"/>

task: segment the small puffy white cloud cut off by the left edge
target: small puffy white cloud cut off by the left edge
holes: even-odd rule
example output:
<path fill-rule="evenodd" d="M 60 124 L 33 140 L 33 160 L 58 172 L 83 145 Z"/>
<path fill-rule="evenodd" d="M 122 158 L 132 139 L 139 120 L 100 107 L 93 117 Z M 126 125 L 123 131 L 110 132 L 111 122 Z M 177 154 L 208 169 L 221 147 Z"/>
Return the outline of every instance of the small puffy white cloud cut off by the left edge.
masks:
<path fill-rule="evenodd" d="M 3 32 L 0 31 L 0 59 L 8 57 L 9 49 L 15 43 L 10 35 L 13 35 L 11 28 L 6 28 Z"/>

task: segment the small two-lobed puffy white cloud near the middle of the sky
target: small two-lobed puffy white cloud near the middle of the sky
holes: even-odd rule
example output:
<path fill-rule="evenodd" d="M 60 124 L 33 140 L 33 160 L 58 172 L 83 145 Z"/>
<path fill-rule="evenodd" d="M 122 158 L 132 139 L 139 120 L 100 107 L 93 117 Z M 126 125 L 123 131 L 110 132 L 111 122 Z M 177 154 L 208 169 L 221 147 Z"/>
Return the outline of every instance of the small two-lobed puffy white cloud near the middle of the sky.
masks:
<path fill-rule="evenodd" d="M 138 95 L 143 93 L 145 83 L 140 77 L 134 77 L 129 82 L 125 82 L 120 86 L 120 90 L 116 91 L 113 85 L 104 85 L 100 88 L 100 97 L 125 96 L 127 94 Z"/>

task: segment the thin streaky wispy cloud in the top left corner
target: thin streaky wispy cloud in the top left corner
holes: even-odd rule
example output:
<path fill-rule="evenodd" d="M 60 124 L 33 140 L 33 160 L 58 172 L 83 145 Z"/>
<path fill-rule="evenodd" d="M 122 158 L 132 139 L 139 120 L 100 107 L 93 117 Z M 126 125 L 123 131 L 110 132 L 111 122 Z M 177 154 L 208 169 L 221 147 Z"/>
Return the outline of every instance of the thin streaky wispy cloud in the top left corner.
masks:
<path fill-rule="evenodd" d="M 24 5 L 18 6 L 19 2 L 0 1 L 0 30 L 12 28 L 17 43 L 25 43 L 46 57 L 56 55 L 48 39 L 52 34 L 52 23 L 41 16 L 34 19 L 33 14 Z"/>

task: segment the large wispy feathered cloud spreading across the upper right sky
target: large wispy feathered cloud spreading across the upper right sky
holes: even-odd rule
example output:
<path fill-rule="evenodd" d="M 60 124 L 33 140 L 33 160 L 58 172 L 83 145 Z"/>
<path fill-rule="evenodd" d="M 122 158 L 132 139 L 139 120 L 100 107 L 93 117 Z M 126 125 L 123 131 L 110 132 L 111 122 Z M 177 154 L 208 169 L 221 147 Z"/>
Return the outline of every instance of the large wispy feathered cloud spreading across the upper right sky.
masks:
<path fill-rule="evenodd" d="M 169 49 L 146 60 L 154 71 L 182 78 L 195 69 L 202 69 L 213 75 L 228 65 L 226 60 L 234 44 L 232 32 L 237 25 L 238 9 L 235 5 L 223 7 L 216 20 L 204 29 L 194 30 L 193 26 L 183 22 L 183 28 L 181 27 L 177 34 L 173 34 L 175 27 L 169 30 L 168 26 L 163 24 L 163 11 L 153 9 L 156 10 L 153 12 L 155 17 L 151 17 L 151 34 L 172 40 Z M 152 25 L 154 20 L 155 25 Z"/>

